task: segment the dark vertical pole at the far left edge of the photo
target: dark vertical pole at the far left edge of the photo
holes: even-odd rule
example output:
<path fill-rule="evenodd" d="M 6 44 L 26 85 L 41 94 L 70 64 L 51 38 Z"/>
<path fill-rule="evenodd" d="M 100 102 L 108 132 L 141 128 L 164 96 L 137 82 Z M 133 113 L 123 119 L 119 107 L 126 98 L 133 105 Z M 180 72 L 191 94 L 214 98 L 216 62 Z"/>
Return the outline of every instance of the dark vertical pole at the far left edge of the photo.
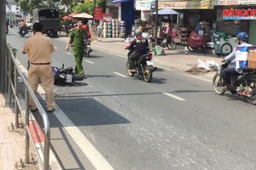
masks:
<path fill-rule="evenodd" d="M 5 85 L 5 54 L 6 54 L 6 1 L 0 0 L 0 92 Z"/>

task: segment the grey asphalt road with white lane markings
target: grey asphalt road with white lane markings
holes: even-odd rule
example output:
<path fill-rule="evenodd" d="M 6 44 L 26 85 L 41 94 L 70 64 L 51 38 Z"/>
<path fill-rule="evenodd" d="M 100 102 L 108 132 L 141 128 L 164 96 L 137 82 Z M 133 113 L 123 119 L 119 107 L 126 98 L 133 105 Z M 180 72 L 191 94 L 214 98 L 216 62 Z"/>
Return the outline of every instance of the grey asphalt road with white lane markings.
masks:
<path fill-rule="evenodd" d="M 26 67 L 26 37 L 10 31 L 7 39 Z M 52 65 L 74 67 L 66 43 L 52 42 Z M 175 71 L 159 69 L 143 82 L 128 77 L 125 58 L 91 54 L 83 63 L 87 79 L 55 86 L 51 144 L 64 169 L 256 169 L 255 106 Z"/>

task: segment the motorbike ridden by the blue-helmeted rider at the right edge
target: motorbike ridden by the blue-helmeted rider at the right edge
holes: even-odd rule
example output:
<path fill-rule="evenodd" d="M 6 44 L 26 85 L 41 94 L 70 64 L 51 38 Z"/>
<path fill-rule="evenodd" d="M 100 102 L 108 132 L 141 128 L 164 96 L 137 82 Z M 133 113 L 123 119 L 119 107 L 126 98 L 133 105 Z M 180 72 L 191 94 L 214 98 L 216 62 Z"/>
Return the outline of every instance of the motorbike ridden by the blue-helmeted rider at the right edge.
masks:
<path fill-rule="evenodd" d="M 224 79 L 222 77 L 222 72 L 227 68 L 229 63 L 224 63 L 220 65 L 217 73 L 212 78 L 212 88 L 215 94 L 222 95 L 225 93 L 224 89 Z M 231 94 L 237 94 L 245 99 L 247 102 L 256 105 L 256 71 L 255 70 L 244 70 L 241 74 L 236 77 L 231 77 L 231 84 L 233 88 L 230 91 Z"/>

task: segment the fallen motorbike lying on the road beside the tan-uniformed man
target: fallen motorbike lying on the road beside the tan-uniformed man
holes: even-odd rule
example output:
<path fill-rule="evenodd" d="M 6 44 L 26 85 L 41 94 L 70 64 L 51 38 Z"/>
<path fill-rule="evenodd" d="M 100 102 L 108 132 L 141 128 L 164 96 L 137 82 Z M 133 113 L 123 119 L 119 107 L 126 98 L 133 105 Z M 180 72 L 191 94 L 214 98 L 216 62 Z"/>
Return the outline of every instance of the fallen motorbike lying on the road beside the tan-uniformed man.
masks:
<path fill-rule="evenodd" d="M 73 73 L 72 67 L 64 68 L 64 64 L 61 67 L 52 67 L 55 77 L 55 84 L 57 83 L 73 83 L 76 81 L 83 81 L 84 75 L 77 75 Z"/>

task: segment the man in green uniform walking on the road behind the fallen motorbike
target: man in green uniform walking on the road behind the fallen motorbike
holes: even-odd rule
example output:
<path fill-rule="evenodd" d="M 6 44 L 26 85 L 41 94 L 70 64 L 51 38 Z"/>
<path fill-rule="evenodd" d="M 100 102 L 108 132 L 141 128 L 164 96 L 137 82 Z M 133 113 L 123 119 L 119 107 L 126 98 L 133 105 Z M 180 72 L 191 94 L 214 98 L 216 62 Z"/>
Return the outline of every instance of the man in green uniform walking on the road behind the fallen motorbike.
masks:
<path fill-rule="evenodd" d="M 68 51 L 69 45 L 73 44 L 73 55 L 76 60 L 75 74 L 84 75 L 82 61 L 84 58 L 84 37 L 87 37 L 87 32 L 83 29 L 84 20 L 78 20 L 78 26 L 70 32 L 69 40 L 67 41 L 66 50 Z"/>

